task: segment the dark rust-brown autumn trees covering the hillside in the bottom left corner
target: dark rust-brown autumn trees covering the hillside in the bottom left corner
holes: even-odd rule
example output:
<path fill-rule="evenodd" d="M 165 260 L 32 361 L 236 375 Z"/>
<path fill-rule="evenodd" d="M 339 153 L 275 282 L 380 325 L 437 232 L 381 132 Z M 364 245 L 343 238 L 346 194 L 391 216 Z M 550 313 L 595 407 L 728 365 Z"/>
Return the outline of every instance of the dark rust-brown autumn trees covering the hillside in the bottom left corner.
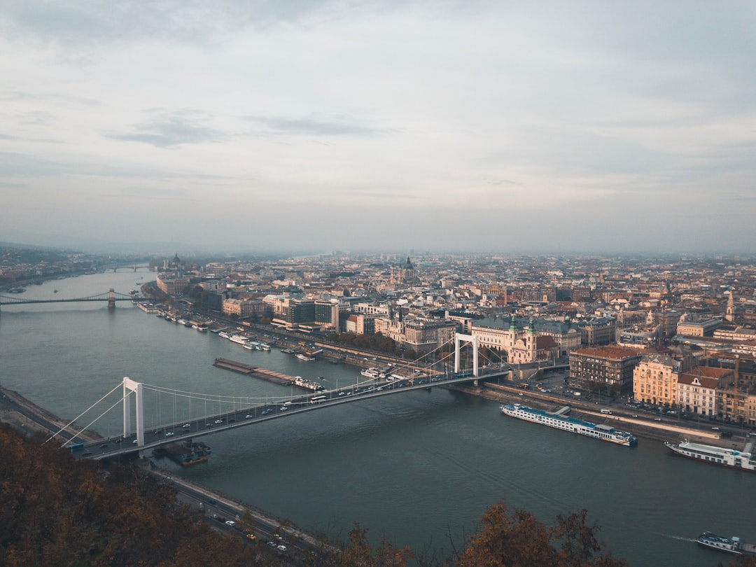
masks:
<path fill-rule="evenodd" d="M 104 469 L 0 424 L 0 565 L 262 565 L 138 467 Z"/>

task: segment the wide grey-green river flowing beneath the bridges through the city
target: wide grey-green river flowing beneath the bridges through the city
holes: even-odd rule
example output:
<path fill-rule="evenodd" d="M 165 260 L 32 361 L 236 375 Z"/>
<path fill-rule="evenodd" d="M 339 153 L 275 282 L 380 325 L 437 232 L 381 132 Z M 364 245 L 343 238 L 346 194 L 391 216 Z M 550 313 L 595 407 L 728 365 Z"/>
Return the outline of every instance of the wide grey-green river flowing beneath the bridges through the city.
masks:
<path fill-rule="evenodd" d="M 70 277 L 14 297 L 85 297 L 110 287 L 128 293 L 151 277 L 132 271 Z M 215 368 L 216 357 L 324 376 L 328 387 L 359 379 L 355 367 L 299 361 L 277 349 L 250 352 L 129 302 L 113 311 L 104 302 L 6 305 L 0 314 L 0 383 L 64 419 L 77 417 L 123 376 L 214 395 L 289 393 Z M 148 426 L 158 412 L 181 414 L 175 404 L 165 395 L 151 402 Z M 94 429 L 117 435 L 119 412 L 116 404 Z M 727 561 L 696 545 L 706 530 L 756 541 L 754 474 L 674 457 L 643 438 L 628 449 L 514 420 L 494 402 L 444 389 L 324 408 L 203 441 L 212 447 L 209 463 L 160 464 L 300 528 L 344 538 L 359 522 L 373 539 L 383 534 L 424 556 L 443 556 L 452 542 L 462 547 L 480 514 L 499 500 L 547 524 L 586 508 L 607 547 L 636 567 Z"/>

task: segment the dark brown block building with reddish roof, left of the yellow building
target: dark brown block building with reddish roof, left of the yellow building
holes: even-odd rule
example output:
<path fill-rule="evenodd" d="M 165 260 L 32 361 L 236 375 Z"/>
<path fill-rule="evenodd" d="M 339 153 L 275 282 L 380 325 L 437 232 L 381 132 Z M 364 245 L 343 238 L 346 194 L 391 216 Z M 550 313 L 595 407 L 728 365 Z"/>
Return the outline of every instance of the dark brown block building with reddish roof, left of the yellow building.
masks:
<path fill-rule="evenodd" d="M 633 371 L 643 355 L 624 346 L 586 347 L 569 355 L 569 383 L 600 394 L 631 395 Z"/>

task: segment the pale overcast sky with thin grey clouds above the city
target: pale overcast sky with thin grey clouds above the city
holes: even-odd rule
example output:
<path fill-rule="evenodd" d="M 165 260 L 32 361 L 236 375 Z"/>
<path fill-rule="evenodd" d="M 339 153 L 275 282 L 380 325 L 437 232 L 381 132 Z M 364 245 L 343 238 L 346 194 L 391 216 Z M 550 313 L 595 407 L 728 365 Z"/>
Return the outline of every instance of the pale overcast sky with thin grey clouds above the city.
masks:
<path fill-rule="evenodd" d="M 0 241 L 744 252 L 756 2 L 4 0 Z"/>

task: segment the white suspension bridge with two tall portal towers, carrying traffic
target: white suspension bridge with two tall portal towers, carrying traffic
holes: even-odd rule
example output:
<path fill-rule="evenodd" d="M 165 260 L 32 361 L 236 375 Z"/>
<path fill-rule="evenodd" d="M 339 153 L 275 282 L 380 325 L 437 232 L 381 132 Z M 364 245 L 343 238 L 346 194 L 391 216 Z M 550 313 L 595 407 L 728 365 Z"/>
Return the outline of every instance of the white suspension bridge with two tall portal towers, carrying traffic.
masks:
<path fill-rule="evenodd" d="M 439 362 L 442 363 L 442 367 L 448 367 L 452 355 L 445 349 L 451 346 L 451 342 L 454 342 L 454 372 L 433 370 Z M 472 351 L 472 356 L 466 357 L 468 362 L 472 358 L 472 367 L 466 370 L 462 368 L 463 357 L 460 355 L 464 347 Z M 435 355 L 438 352 L 442 353 L 442 358 L 435 361 Z M 469 352 L 466 354 L 469 355 Z M 500 361 L 488 362 L 499 364 Z M 306 411 L 316 411 L 325 407 L 417 389 L 469 383 L 479 380 L 481 376 L 478 338 L 457 333 L 448 343 L 440 345 L 417 361 L 392 369 L 392 372 L 389 376 L 376 376 L 347 387 L 302 395 L 265 398 L 185 392 L 140 383 L 125 377 L 121 383 L 91 404 L 82 414 L 51 435 L 47 442 L 54 440 L 63 442 L 63 445 L 70 448 L 72 452 L 81 451 L 82 456 L 94 459 L 117 457 L 135 452 L 142 454 L 142 451 L 159 448 L 166 443 L 181 442 L 228 429 L 302 414 Z M 500 372 L 493 371 L 486 373 L 485 377 L 490 379 L 499 375 Z M 120 395 L 116 395 L 115 401 L 107 405 L 108 398 L 113 399 L 113 394 L 119 390 Z M 150 404 L 146 403 L 146 396 L 152 397 Z M 99 407 L 103 405 L 107 407 L 100 411 Z M 148 406 L 151 409 L 146 411 Z M 91 430 L 111 411 L 119 411 L 116 408 L 122 411 L 123 429 L 120 435 L 116 438 L 101 438 L 97 441 L 84 442 L 82 433 Z M 73 431 L 74 423 L 79 424 L 82 417 L 91 414 L 96 414 L 96 416 L 91 418 L 89 423 Z M 150 417 L 149 422 L 147 417 Z"/>

